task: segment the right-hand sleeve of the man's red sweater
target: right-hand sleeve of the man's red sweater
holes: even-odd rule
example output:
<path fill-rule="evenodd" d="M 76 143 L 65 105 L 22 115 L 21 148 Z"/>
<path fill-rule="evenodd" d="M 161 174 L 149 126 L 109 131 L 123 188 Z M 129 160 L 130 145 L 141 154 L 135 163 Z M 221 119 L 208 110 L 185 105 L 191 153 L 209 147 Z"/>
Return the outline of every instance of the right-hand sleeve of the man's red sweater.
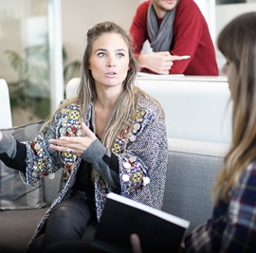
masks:
<path fill-rule="evenodd" d="M 193 1 L 180 1 L 174 19 L 172 55 L 190 55 L 175 61 L 170 74 L 218 75 L 215 50 L 206 20 Z"/>

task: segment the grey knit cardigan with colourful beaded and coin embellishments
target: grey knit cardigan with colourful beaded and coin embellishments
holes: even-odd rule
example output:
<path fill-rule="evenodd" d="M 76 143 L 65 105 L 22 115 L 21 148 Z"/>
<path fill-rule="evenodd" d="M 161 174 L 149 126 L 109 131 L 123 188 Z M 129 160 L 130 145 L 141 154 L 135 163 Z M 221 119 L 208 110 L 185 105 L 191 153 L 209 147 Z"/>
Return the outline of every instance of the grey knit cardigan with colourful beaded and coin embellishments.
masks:
<path fill-rule="evenodd" d="M 92 102 L 85 117 L 88 127 L 90 127 L 91 111 Z M 162 207 L 168 162 L 168 141 L 164 115 L 155 101 L 140 96 L 137 103 L 137 116 L 133 124 L 126 124 L 117 136 L 111 151 L 101 144 L 99 157 L 94 157 L 93 160 L 89 160 L 92 153 L 90 147 L 82 154 L 82 158 L 49 149 L 50 138 L 82 136 L 81 123 L 80 103 L 72 103 L 57 113 L 33 141 L 23 142 L 27 148 L 27 169 L 20 174 L 25 184 L 36 185 L 37 181 L 44 176 L 51 176 L 58 170 L 63 170 L 59 194 L 46 211 L 29 244 L 42 233 L 42 228 L 52 209 L 71 196 L 82 158 L 88 159 L 87 162 L 92 163 L 99 172 L 95 178 L 95 203 L 99 221 L 106 194 L 111 191 L 117 192 L 117 188 L 101 175 L 105 169 L 109 170 L 108 165 L 102 161 L 104 154 L 109 156 L 112 153 L 118 156 L 119 194 L 153 208 Z M 127 145 L 124 149 L 125 140 Z"/>

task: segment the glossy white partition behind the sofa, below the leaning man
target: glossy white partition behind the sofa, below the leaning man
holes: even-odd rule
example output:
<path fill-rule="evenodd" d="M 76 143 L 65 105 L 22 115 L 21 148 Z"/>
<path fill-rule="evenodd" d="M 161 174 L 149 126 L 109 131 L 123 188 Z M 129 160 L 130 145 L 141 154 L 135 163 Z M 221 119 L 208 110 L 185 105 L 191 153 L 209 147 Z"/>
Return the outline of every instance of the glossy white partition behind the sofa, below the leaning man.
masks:
<path fill-rule="evenodd" d="M 74 96 L 80 79 L 66 85 Z M 227 77 L 137 77 L 137 86 L 157 99 L 166 113 L 167 135 L 219 143 L 231 142 L 231 102 Z M 229 104 L 229 107 L 228 107 Z"/>

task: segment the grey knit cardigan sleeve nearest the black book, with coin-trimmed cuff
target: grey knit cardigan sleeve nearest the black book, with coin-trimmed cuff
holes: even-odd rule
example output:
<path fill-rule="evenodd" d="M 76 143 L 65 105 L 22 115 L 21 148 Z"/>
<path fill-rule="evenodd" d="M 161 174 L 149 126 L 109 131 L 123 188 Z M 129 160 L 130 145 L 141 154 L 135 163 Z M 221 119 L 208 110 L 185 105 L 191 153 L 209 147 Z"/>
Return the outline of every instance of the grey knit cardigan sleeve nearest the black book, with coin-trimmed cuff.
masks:
<path fill-rule="evenodd" d="M 127 148 L 117 153 L 121 195 L 160 209 L 168 162 L 166 125 L 155 102 L 142 100 Z M 121 143 L 119 136 L 116 150 Z"/>

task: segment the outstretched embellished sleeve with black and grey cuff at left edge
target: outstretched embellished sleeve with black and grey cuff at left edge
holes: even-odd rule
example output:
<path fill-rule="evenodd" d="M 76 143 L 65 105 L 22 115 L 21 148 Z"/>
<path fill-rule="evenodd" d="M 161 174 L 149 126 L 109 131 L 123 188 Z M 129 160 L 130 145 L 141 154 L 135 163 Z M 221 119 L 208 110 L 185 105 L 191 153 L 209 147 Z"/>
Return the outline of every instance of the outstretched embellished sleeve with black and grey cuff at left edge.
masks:
<path fill-rule="evenodd" d="M 35 185 L 46 175 L 63 167 L 60 153 L 49 149 L 49 138 L 56 138 L 58 119 L 49 122 L 34 140 L 18 142 L 13 136 L 3 135 L 0 143 L 0 158 L 15 170 L 20 171 L 27 185 Z"/>

